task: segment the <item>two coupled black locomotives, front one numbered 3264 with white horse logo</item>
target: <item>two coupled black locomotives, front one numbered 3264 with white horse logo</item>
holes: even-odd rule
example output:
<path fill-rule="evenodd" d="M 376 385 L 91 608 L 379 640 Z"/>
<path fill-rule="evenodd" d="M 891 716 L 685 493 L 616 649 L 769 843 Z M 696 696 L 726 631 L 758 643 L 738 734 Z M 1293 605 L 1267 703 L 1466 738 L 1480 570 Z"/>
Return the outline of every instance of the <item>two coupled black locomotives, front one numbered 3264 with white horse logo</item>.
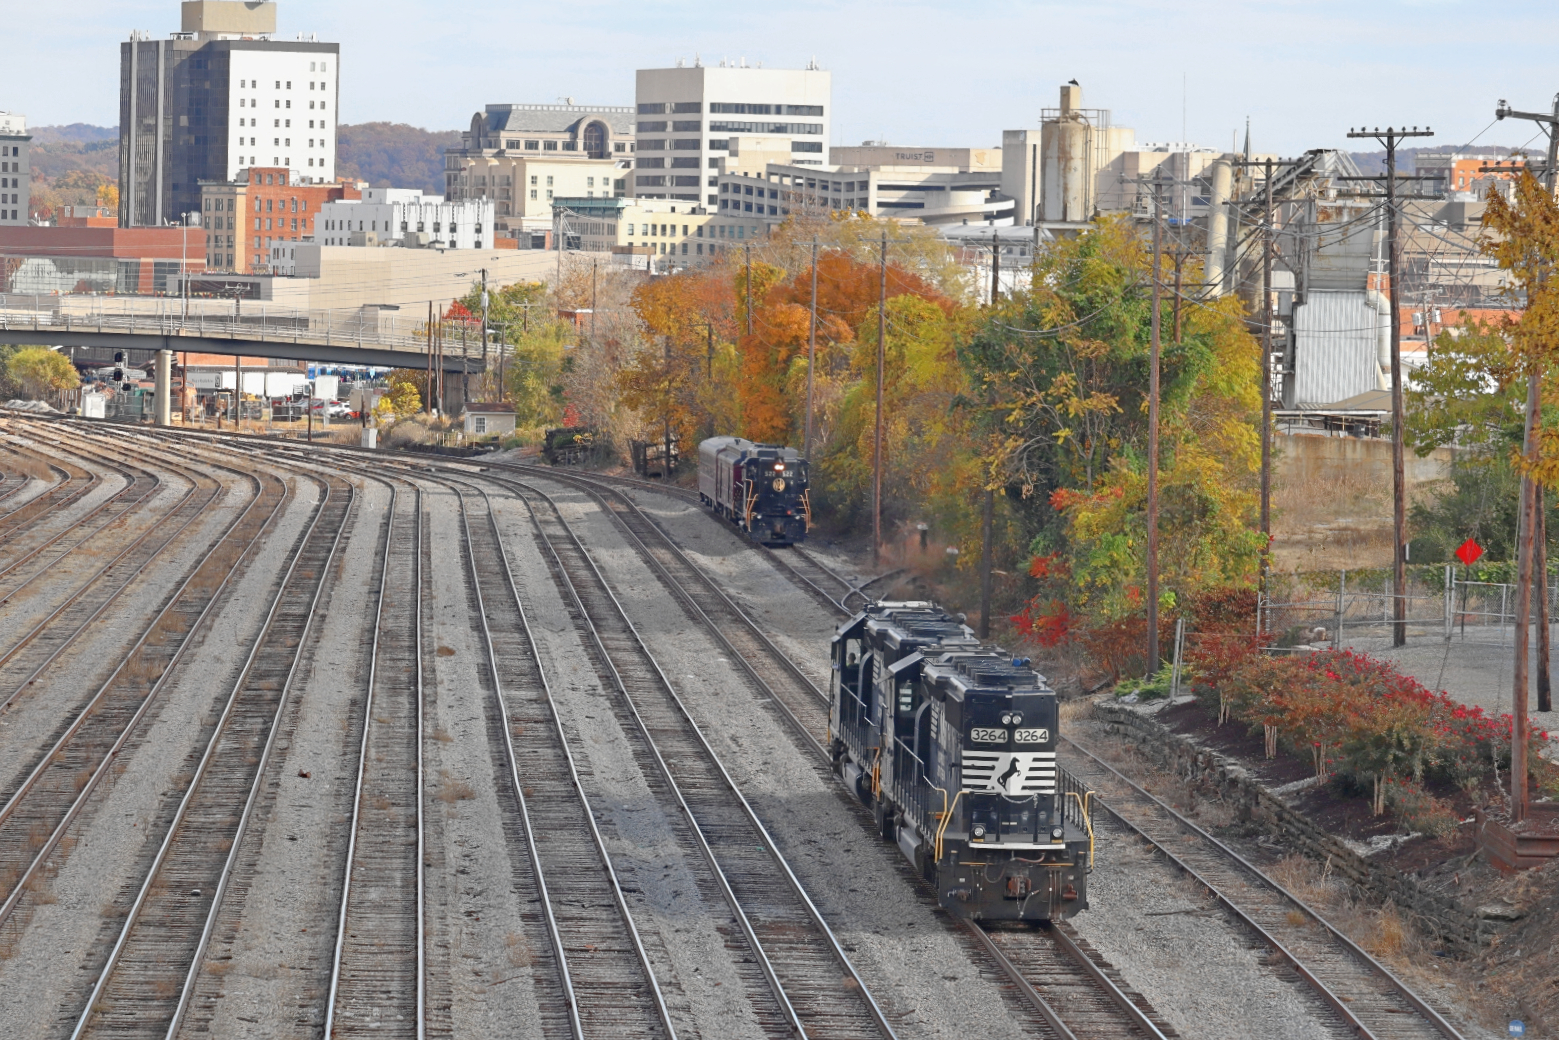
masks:
<path fill-rule="evenodd" d="M 1043 675 L 926 602 L 870 603 L 831 656 L 834 769 L 943 906 L 987 921 L 1087 909 L 1091 792 L 1055 761 Z"/>

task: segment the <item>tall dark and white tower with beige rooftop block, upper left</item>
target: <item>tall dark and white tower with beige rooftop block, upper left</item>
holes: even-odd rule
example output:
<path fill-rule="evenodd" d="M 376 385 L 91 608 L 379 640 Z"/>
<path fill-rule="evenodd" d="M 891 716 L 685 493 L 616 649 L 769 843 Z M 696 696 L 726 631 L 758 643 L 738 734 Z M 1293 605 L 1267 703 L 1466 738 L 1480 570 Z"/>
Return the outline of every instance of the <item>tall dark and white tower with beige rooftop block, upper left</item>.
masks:
<path fill-rule="evenodd" d="M 340 45 L 274 34 L 270 0 L 186 0 L 168 39 L 120 44 L 122 228 L 181 223 L 200 212 L 201 181 L 249 167 L 335 179 Z"/>

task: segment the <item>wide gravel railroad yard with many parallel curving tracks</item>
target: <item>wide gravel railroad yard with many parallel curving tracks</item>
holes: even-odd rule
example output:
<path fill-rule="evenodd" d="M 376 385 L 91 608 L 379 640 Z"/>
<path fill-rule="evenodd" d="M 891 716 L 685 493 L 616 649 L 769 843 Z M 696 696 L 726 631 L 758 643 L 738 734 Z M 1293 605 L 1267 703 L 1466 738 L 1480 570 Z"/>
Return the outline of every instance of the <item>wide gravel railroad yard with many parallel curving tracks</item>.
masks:
<path fill-rule="evenodd" d="M 0 1032 L 1484 1035 L 1082 725 L 1090 909 L 942 909 L 826 752 L 893 586 L 677 488 L 0 418 Z"/>

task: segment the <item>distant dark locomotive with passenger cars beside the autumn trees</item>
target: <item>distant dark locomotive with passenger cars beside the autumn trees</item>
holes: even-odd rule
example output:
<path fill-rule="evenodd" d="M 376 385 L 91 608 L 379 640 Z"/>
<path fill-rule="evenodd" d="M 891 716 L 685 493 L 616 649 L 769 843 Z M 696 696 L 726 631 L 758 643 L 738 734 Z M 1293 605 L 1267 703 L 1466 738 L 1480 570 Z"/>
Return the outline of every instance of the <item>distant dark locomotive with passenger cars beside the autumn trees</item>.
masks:
<path fill-rule="evenodd" d="M 698 499 L 769 546 L 806 541 L 812 525 L 806 460 L 794 447 L 711 437 L 698 444 Z"/>

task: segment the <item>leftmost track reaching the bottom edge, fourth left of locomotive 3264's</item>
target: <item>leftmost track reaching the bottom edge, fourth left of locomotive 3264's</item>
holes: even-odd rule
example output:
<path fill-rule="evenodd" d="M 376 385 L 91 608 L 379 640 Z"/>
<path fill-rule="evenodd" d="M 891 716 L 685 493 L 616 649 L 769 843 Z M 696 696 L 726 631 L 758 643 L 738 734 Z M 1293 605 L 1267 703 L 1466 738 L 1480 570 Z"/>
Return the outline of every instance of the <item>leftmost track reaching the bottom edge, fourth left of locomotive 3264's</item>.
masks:
<path fill-rule="evenodd" d="M 315 608 L 352 516 L 346 480 L 321 479 L 321 501 L 292 554 L 162 845 L 72 1032 L 176 1035 L 221 909 Z"/>

